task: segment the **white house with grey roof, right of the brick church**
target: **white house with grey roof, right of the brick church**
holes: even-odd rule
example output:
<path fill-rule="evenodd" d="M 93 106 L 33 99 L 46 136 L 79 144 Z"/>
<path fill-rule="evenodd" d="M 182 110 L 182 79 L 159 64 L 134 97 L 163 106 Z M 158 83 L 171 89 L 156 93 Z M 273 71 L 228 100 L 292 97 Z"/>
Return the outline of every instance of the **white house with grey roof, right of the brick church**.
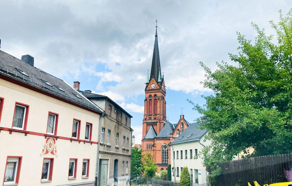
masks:
<path fill-rule="evenodd" d="M 207 171 L 202 165 L 202 159 L 197 154 L 204 146 L 210 144 L 209 141 L 204 142 L 204 136 L 207 130 L 197 129 L 199 123 L 191 123 L 174 141 L 169 145 L 172 146 L 172 181 L 180 181 L 181 171 L 187 167 L 190 172 L 192 186 L 206 185 Z M 174 169 L 175 167 L 175 169 Z"/>

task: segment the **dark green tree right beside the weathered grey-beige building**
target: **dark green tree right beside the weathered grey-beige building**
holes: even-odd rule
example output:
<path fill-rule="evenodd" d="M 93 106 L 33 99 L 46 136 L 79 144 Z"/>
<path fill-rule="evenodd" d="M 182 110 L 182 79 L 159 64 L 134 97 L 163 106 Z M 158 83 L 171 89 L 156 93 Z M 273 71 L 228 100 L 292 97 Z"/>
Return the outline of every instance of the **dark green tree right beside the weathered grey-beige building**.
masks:
<path fill-rule="evenodd" d="M 141 158 L 142 158 L 142 150 L 138 149 L 138 147 L 132 148 L 132 155 L 131 155 L 131 179 L 134 179 L 137 174 L 140 175 L 141 172 Z"/>

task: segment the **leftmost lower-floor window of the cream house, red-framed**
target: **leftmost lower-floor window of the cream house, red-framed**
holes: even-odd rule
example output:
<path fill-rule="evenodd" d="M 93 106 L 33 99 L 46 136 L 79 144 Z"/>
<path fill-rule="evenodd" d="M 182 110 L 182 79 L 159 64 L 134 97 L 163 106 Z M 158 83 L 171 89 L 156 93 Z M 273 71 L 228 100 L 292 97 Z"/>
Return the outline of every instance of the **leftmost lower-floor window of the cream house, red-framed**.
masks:
<path fill-rule="evenodd" d="M 7 157 L 4 183 L 18 184 L 22 157 Z"/>

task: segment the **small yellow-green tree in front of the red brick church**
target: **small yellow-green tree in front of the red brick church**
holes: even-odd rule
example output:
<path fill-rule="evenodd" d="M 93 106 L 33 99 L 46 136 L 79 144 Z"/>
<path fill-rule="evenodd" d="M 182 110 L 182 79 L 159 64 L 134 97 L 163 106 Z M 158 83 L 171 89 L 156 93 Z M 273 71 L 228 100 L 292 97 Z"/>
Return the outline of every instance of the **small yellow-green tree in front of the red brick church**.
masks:
<path fill-rule="evenodd" d="M 151 178 L 155 175 L 155 172 L 157 172 L 157 165 L 153 161 L 153 157 L 150 153 L 145 153 L 142 155 L 143 157 L 143 163 L 142 163 L 142 171 L 144 177 L 149 177 L 150 180 Z"/>

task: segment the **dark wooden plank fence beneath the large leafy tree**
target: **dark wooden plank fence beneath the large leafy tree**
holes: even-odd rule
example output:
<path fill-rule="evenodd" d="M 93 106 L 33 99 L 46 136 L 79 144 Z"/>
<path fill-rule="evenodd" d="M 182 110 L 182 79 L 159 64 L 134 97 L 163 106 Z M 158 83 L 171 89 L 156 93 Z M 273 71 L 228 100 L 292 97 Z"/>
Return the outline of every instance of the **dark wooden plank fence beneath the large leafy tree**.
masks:
<path fill-rule="evenodd" d="M 215 186 L 247 185 L 257 181 L 260 185 L 287 181 L 292 176 L 292 154 L 261 156 L 219 163 L 221 175 Z M 291 170 L 287 172 L 287 170 Z M 287 177 L 286 177 L 287 176 Z"/>

